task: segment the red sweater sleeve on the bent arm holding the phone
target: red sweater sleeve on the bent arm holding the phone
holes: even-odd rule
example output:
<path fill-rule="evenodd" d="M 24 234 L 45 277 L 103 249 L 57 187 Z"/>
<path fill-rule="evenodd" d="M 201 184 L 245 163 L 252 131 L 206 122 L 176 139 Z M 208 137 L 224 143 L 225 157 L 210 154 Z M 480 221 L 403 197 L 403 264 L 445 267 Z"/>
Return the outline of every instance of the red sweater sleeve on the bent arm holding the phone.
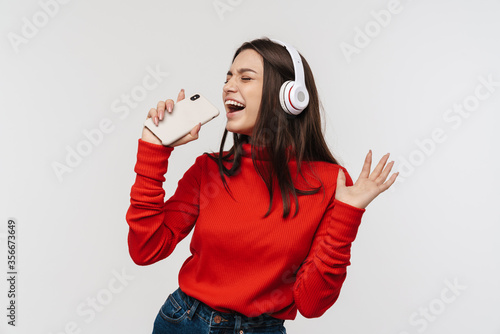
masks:
<path fill-rule="evenodd" d="M 179 180 L 174 195 L 164 202 L 163 182 L 174 148 L 139 139 L 135 183 L 126 214 L 132 260 L 148 265 L 169 256 L 184 239 L 199 213 L 201 157 Z"/>

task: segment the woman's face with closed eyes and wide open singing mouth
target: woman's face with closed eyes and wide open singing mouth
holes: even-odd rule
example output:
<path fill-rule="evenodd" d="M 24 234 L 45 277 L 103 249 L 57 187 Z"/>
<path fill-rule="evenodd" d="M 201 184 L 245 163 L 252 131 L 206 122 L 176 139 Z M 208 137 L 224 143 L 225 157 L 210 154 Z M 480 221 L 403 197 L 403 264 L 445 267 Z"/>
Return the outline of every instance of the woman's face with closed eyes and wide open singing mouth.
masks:
<path fill-rule="evenodd" d="M 262 56 L 252 49 L 240 52 L 227 72 L 222 90 L 228 131 L 252 135 L 262 99 L 263 79 Z"/>

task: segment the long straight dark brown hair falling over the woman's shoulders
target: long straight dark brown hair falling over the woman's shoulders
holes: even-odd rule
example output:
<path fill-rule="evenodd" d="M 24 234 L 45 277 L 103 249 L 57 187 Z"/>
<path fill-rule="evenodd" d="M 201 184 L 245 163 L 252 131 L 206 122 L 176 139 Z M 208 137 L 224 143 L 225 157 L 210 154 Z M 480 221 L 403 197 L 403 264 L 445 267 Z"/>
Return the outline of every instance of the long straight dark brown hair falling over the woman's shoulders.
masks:
<path fill-rule="evenodd" d="M 290 54 L 283 46 L 272 42 L 267 37 L 263 37 L 243 43 L 236 50 L 233 62 L 240 52 L 247 49 L 258 52 L 264 61 L 262 100 L 252 136 L 250 138 L 248 135 L 233 133 L 233 147 L 224 155 L 223 148 L 228 133 L 228 130 L 225 129 L 219 153 L 214 156 L 208 153 L 205 154 L 217 162 L 224 187 L 232 196 L 224 175 L 232 176 L 239 172 L 243 154 L 242 145 L 251 143 L 252 145 L 264 147 L 266 149 L 265 155 L 268 156 L 267 159 L 269 160 L 267 167 L 259 159 L 259 150 L 252 148 L 251 154 L 253 165 L 265 182 L 269 192 L 270 203 L 264 217 L 267 217 L 271 212 L 274 177 L 278 180 L 283 199 L 283 218 L 288 217 L 290 213 L 289 194 L 295 201 L 295 217 L 299 210 L 297 194 L 315 194 L 323 187 L 323 183 L 317 177 L 317 180 L 321 183 L 320 187 L 311 190 L 295 188 L 288 168 L 291 158 L 293 157 L 296 160 L 297 171 L 301 176 L 303 176 L 301 170 L 302 161 L 325 161 L 338 165 L 337 160 L 333 157 L 325 142 L 321 130 L 318 91 L 309 64 L 301 55 L 306 87 L 309 92 L 309 105 L 297 116 L 285 113 L 281 108 L 278 96 L 283 82 L 295 79 Z M 290 148 L 292 156 L 287 153 Z M 232 162 L 231 168 L 226 168 L 222 163 L 223 161 Z"/>

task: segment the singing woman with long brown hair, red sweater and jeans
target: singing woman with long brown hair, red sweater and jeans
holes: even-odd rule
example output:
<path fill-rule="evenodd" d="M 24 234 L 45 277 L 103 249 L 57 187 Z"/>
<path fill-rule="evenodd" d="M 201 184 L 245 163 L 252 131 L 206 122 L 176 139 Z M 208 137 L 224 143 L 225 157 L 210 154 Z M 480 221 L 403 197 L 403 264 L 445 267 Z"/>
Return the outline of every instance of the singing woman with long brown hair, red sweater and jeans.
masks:
<path fill-rule="evenodd" d="M 398 173 L 387 179 L 389 154 L 370 173 L 370 151 L 353 184 L 324 140 L 314 78 L 301 56 L 309 103 L 285 112 L 279 95 L 297 75 L 292 51 L 268 38 L 236 51 L 222 90 L 220 150 L 200 155 L 167 201 L 170 154 L 198 139 L 201 124 L 170 146 L 143 130 L 126 216 L 132 259 L 160 261 L 194 228 L 192 255 L 153 333 L 286 333 L 284 321 L 297 311 L 319 317 L 339 296 L 365 208 Z M 177 102 L 184 97 L 181 90 Z M 173 105 L 160 101 L 148 117 L 158 124 Z M 228 132 L 233 146 L 223 151 Z"/>

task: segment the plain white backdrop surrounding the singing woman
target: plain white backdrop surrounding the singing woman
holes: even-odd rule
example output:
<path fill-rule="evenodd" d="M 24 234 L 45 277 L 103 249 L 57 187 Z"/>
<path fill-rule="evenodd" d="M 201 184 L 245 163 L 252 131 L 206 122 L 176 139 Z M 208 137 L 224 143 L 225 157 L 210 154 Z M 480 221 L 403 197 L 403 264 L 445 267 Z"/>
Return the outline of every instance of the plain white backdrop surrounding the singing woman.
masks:
<path fill-rule="evenodd" d="M 285 322 L 288 333 L 500 333 L 498 1 L 54 3 L 0 3 L 1 333 L 151 332 L 190 236 L 154 265 L 129 257 L 142 122 L 181 88 L 223 110 L 234 51 L 262 36 L 308 60 L 328 144 L 354 180 L 369 149 L 374 161 L 390 152 L 401 171 L 367 208 L 337 303 Z M 389 7 L 397 13 L 381 26 L 375 17 Z M 116 112 L 148 68 L 168 76 Z M 478 100 L 488 77 L 496 84 L 479 88 L 488 96 Z M 467 117 L 448 111 L 463 103 L 474 109 Z M 68 152 L 88 143 L 84 131 L 106 119 L 112 131 L 58 178 L 54 165 L 68 166 Z M 221 114 L 174 150 L 167 196 L 197 156 L 218 150 L 225 122 Z M 18 225 L 15 328 L 6 317 L 9 218 Z"/>

